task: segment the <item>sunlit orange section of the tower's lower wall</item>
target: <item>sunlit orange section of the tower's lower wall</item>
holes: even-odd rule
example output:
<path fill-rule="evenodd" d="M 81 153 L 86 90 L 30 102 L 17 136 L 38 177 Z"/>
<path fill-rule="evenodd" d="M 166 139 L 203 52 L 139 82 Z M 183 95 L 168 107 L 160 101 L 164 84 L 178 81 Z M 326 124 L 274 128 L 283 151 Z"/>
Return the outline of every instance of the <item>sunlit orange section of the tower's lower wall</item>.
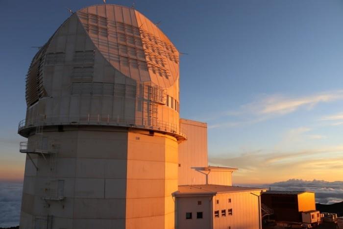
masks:
<path fill-rule="evenodd" d="M 173 229 L 177 191 L 177 142 L 174 138 L 144 132 L 128 134 L 128 229 Z"/>

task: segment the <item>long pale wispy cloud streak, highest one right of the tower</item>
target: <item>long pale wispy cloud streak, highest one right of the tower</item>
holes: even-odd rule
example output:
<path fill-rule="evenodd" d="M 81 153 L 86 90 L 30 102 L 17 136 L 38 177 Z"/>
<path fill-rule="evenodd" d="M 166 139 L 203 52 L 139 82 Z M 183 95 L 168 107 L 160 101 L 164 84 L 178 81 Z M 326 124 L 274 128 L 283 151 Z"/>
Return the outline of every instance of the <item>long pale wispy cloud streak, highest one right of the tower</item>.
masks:
<path fill-rule="evenodd" d="M 308 96 L 291 97 L 285 95 L 267 95 L 259 96 L 255 101 L 243 104 L 236 110 L 219 112 L 215 115 L 209 115 L 205 118 L 210 122 L 209 128 L 227 128 L 240 125 L 253 124 L 274 118 L 276 116 L 286 115 L 299 109 L 313 109 L 317 104 L 324 102 L 334 102 L 343 100 L 343 90 L 322 92 Z M 226 122 L 222 119 L 228 118 Z M 327 117 L 327 118 L 342 118 Z M 215 124 L 220 120 L 220 124 Z M 213 124 L 211 124 L 213 123 Z"/>

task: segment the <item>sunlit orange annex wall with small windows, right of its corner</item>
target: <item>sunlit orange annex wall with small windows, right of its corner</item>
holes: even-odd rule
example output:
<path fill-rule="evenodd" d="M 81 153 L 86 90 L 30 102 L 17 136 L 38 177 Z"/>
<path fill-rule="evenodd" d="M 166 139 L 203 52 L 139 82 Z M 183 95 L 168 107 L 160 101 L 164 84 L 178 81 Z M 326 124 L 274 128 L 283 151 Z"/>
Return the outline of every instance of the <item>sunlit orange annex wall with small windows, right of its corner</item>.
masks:
<path fill-rule="evenodd" d="M 251 192 L 260 195 L 260 192 Z M 250 192 L 217 194 L 213 198 L 213 229 L 258 229 L 260 225 L 259 198 Z M 229 203 L 231 199 L 231 203 Z M 217 204 L 217 201 L 219 203 Z M 228 215 L 232 209 L 232 215 Z M 221 216 L 225 210 L 226 216 Z M 219 211 L 219 217 L 214 212 Z"/>

